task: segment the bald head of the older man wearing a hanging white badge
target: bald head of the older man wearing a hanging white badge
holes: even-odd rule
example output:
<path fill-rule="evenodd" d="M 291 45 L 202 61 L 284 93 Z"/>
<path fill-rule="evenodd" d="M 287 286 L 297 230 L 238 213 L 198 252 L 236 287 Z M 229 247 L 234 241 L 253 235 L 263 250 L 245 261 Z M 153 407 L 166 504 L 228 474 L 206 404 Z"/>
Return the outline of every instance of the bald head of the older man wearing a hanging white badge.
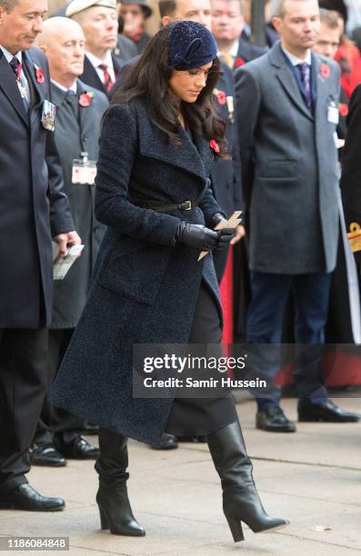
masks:
<path fill-rule="evenodd" d="M 79 24 L 67 17 L 50 17 L 36 43 L 44 50 L 50 76 L 66 88 L 83 74 L 85 36 Z"/>

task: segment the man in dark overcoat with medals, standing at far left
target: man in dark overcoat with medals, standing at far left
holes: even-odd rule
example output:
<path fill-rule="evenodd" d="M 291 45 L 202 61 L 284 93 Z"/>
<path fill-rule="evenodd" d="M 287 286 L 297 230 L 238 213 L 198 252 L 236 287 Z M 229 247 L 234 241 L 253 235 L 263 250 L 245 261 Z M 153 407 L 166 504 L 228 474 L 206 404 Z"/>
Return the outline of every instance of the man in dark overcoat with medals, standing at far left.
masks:
<path fill-rule="evenodd" d="M 54 142 L 45 55 L 32 45 L 45 0 L 0 2 L 0 507 L 61 510 L 27 483 L 46 390 L 53 307 L 52 237 L 80 243 Z"/>

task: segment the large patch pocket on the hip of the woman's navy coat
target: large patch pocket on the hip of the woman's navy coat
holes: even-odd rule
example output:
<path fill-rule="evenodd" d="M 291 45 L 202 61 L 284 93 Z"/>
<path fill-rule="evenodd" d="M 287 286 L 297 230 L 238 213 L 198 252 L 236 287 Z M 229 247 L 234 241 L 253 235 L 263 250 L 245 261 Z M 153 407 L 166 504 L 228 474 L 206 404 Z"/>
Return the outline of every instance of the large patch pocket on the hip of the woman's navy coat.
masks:
<path fill-rule="evenodd" d="M 111 253 L 99 282 L 108 290 L 152 305 L 172 251 L 165 245 L 126 239 Z"/>

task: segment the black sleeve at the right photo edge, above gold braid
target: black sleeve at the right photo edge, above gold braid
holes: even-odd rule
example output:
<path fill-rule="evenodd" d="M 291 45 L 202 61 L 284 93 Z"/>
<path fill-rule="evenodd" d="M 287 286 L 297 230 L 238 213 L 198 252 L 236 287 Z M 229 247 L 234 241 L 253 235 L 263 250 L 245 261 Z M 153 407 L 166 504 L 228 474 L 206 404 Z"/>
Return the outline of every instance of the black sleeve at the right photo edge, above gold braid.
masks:
<path fill-rule="evenodd" d="M 346 229 L 350 223 L 361 225 L 361 85 L 351 96 L 348 115 L 346 144 L 342 153 L 341 194 L 344 205 Z M 358 253 L 357 259 L 361 259 Z"/>

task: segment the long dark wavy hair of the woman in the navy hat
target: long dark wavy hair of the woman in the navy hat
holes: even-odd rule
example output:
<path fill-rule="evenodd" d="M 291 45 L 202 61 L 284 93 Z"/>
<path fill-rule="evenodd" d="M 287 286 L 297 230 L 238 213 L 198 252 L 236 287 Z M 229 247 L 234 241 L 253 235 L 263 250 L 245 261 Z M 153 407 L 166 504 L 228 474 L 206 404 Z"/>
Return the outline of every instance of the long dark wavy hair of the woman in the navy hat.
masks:
<path fill-rule="evenodd" d="M 218 82 L 219 60 L 216 58 L 208 73 L 206 86 L 195 103 L 181 101 L 169 93 L 172 69 L 168 66 L 169 36 L 175 24 L 162 27 L 148 42 L 143 55 L 126 71 L 125 83 L 115 93 L 112 104 L 128 103 L 144 98 L 151 122 L 162 130 L 171 144 L 181 144 L 179 137 L 179 109 L 192 134 L 203 135 L 207 141 L 215 139 L 221 158 L 229 158 L 226 144 L 226 122 L 216 115 L 212 100 Z"/>

